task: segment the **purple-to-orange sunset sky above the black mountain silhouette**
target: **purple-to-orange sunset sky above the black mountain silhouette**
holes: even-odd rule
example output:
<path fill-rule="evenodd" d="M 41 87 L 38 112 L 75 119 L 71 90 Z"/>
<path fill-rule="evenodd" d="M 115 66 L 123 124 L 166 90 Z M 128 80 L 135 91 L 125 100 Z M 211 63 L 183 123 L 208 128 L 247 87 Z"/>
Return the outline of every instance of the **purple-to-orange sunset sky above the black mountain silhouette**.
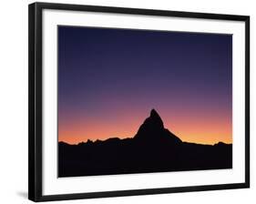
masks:
<path fill-rule="evenodd" d="M 232 36 L 58 26 L 58 140 L 131 138 L 152 108 L 183 141 L 232 142 Z"/>

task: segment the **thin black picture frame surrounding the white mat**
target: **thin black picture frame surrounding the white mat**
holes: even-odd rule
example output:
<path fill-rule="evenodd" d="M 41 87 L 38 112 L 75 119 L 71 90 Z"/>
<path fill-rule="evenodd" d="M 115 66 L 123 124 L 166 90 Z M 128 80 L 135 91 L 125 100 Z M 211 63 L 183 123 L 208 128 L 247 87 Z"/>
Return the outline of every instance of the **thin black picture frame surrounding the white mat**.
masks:
<path fill-rule="evenodd" d="M 245 22 L 245 182 L 221 185 L 189 186 L 162 189 L 132 189 L 92 193 L 77 193 L 63 195 L 42 194 L 42 11 L 58 9 L 69 11 L 92 11 L 129 15 L 159 15 L 187 18 L 218 19 Z M 124 7 L 108 7 L 94 5 L 66 5 L 34 3 L 29 5 L 28 12 L 28 87 L 29 87 L 29 150 L 28 150 L 28 199 L 33 201 L 50 201 L 64 199 L 92 199 L 105 197 L 120 197 L 133 195 L 175 193 L 187 191 L 242 189 L 250 187 L 250 16 L 220 15 L 192 12 L 177 12 L 167 10 L 149 10 Z"/>

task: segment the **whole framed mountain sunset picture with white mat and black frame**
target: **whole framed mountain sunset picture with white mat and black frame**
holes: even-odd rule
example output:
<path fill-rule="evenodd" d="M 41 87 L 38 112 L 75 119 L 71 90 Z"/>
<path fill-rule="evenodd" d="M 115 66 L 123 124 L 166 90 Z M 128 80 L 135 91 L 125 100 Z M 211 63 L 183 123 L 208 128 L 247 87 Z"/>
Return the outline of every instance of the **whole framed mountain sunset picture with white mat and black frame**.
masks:
<path fill-rule="evenodd" d="M 250 186 L 250 17 L 29 5 L 29 199 Z"/>

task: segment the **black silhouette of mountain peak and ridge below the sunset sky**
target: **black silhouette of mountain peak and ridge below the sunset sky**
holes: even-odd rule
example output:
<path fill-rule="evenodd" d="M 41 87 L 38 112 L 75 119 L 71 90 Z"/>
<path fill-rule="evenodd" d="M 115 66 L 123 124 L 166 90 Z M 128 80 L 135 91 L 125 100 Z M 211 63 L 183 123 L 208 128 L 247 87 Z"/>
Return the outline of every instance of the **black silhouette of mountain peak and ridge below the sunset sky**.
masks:
<path fill-rule="evenodd" d="M 58 176 L 232 168 L 232 145 L 182 142 L 152 109 L 134 138 L 58 143 Z"/>

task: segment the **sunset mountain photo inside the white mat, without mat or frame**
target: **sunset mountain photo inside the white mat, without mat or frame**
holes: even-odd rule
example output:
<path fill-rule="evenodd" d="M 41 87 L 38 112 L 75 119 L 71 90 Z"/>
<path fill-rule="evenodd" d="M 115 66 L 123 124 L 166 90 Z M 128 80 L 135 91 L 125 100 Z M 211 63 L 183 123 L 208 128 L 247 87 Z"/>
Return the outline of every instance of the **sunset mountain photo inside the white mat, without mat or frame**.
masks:
<path fill-rule="evenodd" d="M 58 177 L 232 168 L 232 35 L 57 27 Z"/>

